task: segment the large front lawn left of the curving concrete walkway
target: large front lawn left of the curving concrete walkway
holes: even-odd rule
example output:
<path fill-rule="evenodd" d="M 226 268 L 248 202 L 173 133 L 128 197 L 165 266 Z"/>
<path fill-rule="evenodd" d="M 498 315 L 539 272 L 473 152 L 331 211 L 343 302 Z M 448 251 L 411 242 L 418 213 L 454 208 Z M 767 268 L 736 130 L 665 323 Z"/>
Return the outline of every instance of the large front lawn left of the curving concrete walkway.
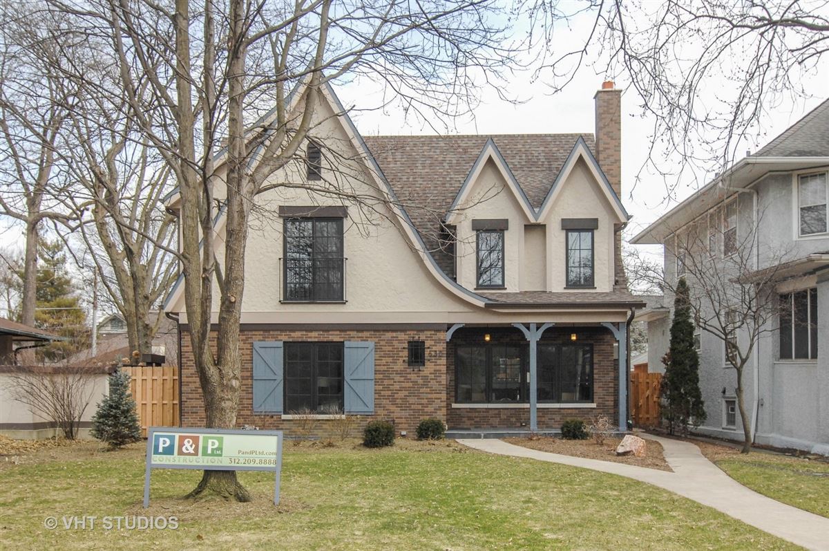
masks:
<path fill-rule="evenodd" d="M 3 549 L 797 549 L 634 480 L 450 442 L 288 445 L 278 509 L 269 473 L 240 474 L 255 500 L 236 504 L 183 500 L 201 473 L 159 469 L 143 510 L 140 445 L 20 461 L 0 463 Z M 174 515 L 179 528 L 43 527 L 50 515 L 131 514 Z"/>

